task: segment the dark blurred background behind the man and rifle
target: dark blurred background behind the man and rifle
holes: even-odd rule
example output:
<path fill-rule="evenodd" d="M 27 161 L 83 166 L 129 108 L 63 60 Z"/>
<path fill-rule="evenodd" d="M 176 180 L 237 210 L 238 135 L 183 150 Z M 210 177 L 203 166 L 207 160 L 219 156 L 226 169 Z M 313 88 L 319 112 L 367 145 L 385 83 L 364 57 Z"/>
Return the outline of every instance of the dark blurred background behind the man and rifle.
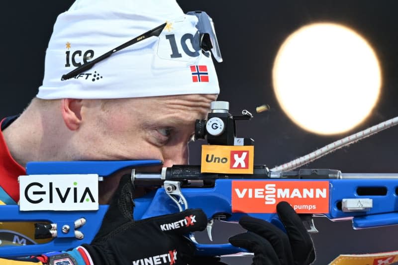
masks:
<path fill-rule="evenodd" d="M 36 94 L 43 79 L 45 49 L 53 24 L 57 15 L 72 2 L 15 0 L 2 5 L 1 117 L 20 113 Z M 230 101 L 232 114 L 239 114 L 243 108 L 255 113 L 255 107 L 263 103 L 271 106 L 270 111 L 238 125 L 238 136 L 256 141 L 256 164 L 272 168 L 398 116 L 397 1 L 180 0 L 179 3 L 184 11 L 204 10 L 214 20 L 224 59 L 223 63 L 216 64 L 221 88 L 218 99 Z M 347 25 L 364 36 L 375 49 L 382 67 L 381 97 L 370 117 L 352 131 L 337 136 L 319 136 L 300 129 L 283 113 L 272 89 L 272 65 L 285 38 L 302 25 L 321 21 Z M 325 104 L 350 111 L 349 105 L 327 101 Z M 396 173 L 397 133 L 398 128 L 390 128 L 305 167 L 338 169 L 343 173 Z M 191 154 L 191 162 L 199 163 L 199 143 L 193 145 Z M 398 227 L 395 226 L 354 231 L 349 221 L 333 223 L 326 218 L 317 218 L 315 225 L 320 231 L 312 236 L 317 265 L 327 264 L 339 254 L 398 250 Z M 216 224 L 213 238 L 218 243 L 226 242 L 227 234 L 238 230 L 236 225 Z M 199 238 L 204 240 L 203 235 Z M 249 264 L 250 259 L 224 261 Z"/>

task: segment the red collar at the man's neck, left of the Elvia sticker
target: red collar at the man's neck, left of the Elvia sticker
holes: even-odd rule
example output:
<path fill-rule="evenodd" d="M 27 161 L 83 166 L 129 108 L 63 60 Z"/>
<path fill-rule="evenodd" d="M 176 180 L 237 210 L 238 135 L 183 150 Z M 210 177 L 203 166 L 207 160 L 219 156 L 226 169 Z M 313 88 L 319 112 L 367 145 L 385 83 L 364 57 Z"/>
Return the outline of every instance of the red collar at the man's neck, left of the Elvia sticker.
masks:
<path fill-rule="evenodd" d="M 0 186 L 16 202 L 19 201 L 18 177 L 21 175 L 26 175 L 26 171 L 11 157 L 0 131 Z"/>

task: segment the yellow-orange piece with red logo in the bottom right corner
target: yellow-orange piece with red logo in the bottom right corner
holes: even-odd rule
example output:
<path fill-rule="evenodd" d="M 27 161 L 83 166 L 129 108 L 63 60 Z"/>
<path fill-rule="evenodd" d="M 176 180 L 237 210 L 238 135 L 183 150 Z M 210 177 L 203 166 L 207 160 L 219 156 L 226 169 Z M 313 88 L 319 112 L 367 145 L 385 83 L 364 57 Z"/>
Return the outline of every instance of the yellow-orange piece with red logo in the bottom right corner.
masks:
<path fill-rule="evenodd" d="M 361 255 L 340 255 L 329 265 L 389 265 L 398 262 L 398 251 Z"/>

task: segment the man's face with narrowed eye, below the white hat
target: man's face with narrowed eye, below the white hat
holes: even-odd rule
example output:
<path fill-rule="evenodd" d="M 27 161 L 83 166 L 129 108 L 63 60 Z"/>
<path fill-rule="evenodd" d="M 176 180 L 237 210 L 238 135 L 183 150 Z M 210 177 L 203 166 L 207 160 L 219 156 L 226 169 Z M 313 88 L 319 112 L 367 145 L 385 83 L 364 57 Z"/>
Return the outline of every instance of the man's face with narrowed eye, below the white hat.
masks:
<path fill-rule="evenodd" d="M 195 121 L 207 117 L 215 99 L 214 94 L 189 94 L 89 101 L 82 109 L 79 138 L 85 148 L 78 147 L 82 154 L 78 160 L 188 164 Z"/>

